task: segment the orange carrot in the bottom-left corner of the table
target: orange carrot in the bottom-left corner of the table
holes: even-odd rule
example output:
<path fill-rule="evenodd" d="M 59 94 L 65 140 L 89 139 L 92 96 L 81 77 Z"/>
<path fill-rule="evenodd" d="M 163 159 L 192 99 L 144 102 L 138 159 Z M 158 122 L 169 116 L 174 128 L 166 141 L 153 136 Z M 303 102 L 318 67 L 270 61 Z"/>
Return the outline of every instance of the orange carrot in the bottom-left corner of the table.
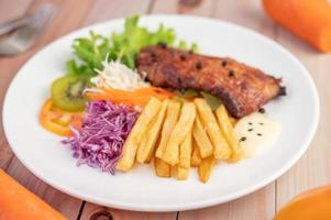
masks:
<path fill-rule="evenodd" d="M 66 218 L 0 169 L 0 219 L 65 220 Z"/>

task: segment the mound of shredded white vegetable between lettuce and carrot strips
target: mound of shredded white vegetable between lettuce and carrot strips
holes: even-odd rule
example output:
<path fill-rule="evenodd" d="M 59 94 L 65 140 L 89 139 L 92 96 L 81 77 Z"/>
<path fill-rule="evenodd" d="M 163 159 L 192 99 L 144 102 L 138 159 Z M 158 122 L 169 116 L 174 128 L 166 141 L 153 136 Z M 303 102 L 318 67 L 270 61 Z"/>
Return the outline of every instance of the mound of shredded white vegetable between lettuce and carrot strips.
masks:
<path fill-rule="evenodd" d="M 136 70 L 132 70 L 119 61 L 102 62 L 103 69 L 98 70 L 98 76 L 91 78 L 91 82 L 98 88 L 113 88 L 121 90 L 135 90 L 139 88 L 150 87 Z"/>

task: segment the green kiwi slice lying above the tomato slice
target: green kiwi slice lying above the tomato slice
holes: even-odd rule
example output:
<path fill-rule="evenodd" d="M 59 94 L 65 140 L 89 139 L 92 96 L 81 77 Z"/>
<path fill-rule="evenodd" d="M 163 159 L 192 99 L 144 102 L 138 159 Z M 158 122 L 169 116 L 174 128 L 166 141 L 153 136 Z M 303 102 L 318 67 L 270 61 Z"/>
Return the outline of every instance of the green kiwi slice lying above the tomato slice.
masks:
<path fill-rule="evenodd" d="M 84 89 L 89 86 L 90 77 L 60 77 L 52 85 L 52 100 L 56 107 L 64 111 L 82 111 L 87 101 Z"/>

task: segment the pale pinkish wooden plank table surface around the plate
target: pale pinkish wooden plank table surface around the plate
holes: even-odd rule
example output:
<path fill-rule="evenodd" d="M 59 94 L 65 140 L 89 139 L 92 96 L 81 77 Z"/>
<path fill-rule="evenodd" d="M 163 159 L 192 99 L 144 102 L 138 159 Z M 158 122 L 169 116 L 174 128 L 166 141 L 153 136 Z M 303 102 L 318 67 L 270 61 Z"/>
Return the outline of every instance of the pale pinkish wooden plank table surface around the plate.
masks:
<path fill-rule="evenodd" d="M 0 0 L 0 23 L 32 11 L 44 0 Z M 34 191 L 68 219 L 272 219 L 277 210 L 302 190 L 331 180 L 331 54 L 321 54 L 276 25 L 263 11 L 261 0 L 52 0 L 58 12 L 29 52 L 0 57 L 0 111 L 7 88 L 19 68 L 46 44 L 78 28 L 134 13 L 180 13 L 230 21 L 277 41 L 310 70 L 321 100 L 317 134 L 307 153 L 285 175 L 263 189 L 211 208 L 146 213 L 114 210 L 63 194 L 31 174 L 10 150 L 0 118 L 0 168 Z M 254 52 L 252 52 L 254 53 Z M 0 112 L 0 114 L 2 114 Z M 294 133 L 295 139 L 295 133 Z M 27 147 L 27 146 L 26 146 Z"/>

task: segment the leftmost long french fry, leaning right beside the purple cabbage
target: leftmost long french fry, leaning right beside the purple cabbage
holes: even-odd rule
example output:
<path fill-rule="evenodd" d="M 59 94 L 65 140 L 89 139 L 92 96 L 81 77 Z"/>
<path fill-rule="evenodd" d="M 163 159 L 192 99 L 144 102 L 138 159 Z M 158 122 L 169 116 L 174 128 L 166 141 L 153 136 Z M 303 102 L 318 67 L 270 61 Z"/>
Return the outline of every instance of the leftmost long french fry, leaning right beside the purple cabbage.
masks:
<path fill-rule="evenodd" d="M 161 106 L 162 102 L 157 99 L 150 99 L 148 103 L 145 106 L 143 112 L 137 118 L 128 139 L 124 142 L 122 157 L 120 158 L 117 165 L 117 169 L 122 172 L 129 172 L 133 167 L 136 151 L 142 139 L 142 134 L 147 129 L 148 123 L 158 112 Z"/>

